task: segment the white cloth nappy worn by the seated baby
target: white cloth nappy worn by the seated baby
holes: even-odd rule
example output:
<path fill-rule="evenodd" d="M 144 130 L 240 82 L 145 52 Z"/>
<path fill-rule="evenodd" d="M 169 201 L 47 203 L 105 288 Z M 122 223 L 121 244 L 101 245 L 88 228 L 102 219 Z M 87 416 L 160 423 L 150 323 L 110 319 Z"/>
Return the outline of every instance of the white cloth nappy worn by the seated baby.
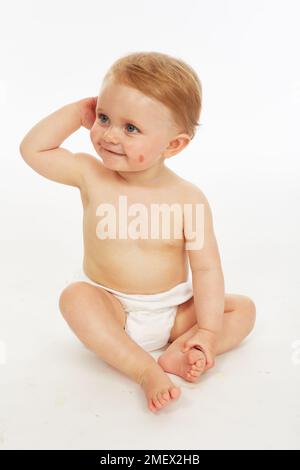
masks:
<path fill-rule="evenodd" d="M 84 281 L 111 292 L 126 314 L 126 333 L 145 351 L 164 347 L 169 340 L 177 307 L 193 297 L 191 280 L 158 294 L 125 294 L 92 281 L 80 269 L 71 282 Z"/>

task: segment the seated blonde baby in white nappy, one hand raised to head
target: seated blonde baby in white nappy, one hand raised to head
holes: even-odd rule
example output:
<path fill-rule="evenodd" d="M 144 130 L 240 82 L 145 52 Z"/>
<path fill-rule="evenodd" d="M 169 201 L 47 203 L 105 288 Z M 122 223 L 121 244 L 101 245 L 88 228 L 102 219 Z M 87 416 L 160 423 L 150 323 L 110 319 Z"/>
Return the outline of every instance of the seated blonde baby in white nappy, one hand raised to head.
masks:
<path fill-rule="evenodd" d="M 31 168 L 81 195 L 83 265 L 60 311 L 87 348 L 141 385 L 152 412 L 180 397 L 167 373 L 197 382 L 255 322 L 249 297 L 224 292 L 206 196 L 165 164 L 193 139 L 201 101 L 184 61 L 136 52 L 111 66 L 98 97 L 53 112 L 20 144 Z M 61 147 L 81 126 L 97 156 Z M 165 346 L 157 361 L 149 354 Z"/>

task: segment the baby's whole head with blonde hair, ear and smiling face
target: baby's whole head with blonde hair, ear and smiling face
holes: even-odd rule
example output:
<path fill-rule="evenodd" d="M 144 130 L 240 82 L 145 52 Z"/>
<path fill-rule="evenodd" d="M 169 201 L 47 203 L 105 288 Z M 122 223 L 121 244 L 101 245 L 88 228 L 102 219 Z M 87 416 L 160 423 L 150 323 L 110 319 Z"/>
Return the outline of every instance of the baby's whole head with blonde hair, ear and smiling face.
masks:
<path fill-rule="evenodd" d="M 159 52 L 126 55 L 104 77 L 92 143 L 110 169 L 146 170 L 193 139 L 201 101 L 201 82 L 182 60 Z"/>

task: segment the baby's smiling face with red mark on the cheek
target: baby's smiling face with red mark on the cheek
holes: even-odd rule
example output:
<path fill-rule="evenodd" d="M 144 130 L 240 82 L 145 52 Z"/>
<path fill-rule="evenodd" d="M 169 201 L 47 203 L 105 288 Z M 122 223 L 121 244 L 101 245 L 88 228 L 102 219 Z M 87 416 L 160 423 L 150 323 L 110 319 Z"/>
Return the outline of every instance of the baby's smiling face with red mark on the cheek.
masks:
<path fill-rule="evenodd" d="M 164 151 L 177 135 L 171 112 L 162 103 L 111 78 L 104 82 L 90 137 L 105 166 L 119 171 L 149 168 L 168 156 Z"/>

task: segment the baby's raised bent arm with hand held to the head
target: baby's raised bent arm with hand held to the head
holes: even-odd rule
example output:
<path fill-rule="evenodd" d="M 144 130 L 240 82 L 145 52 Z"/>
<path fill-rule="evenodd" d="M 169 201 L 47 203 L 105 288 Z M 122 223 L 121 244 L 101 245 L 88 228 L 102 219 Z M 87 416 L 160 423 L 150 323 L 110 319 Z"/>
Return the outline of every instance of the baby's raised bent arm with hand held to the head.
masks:
<path fill-rule="evenodd" d="M 95 120 L 96 98 L 67 104 L 39 121 L 24 137 L 20 153 L 40 175 L 70 186 L 82 187 L 84 165 L 90 157 L 72 153 L 61 143 L 82 125 L 90 129 Z"/>

